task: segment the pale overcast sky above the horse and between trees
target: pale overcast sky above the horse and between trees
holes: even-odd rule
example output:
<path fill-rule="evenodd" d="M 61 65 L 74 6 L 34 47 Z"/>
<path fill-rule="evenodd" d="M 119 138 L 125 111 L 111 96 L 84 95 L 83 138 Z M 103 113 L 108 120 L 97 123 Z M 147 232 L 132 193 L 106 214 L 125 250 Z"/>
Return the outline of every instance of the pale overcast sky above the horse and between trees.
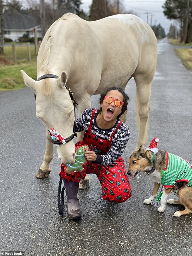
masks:
<path fill-rule="evenodd" d="M 89 12 L 89 6 L 92 0 L 82 0 L 84 12 Z M 132 10 L 135 15 L 139 16 L 145 22 L 147 22 L 147 12 L 148 12 L 148 24 L 158 25 L 159 23 L 165 29 L 165 33 L 169 32 L 170 24 L 173 24 L 173 20 L 168 20 L 163 14 L 163 8 L 165 0 L 119 0 L 120 6 L 123 5 L 124 8 L 129 11 Z"/>

